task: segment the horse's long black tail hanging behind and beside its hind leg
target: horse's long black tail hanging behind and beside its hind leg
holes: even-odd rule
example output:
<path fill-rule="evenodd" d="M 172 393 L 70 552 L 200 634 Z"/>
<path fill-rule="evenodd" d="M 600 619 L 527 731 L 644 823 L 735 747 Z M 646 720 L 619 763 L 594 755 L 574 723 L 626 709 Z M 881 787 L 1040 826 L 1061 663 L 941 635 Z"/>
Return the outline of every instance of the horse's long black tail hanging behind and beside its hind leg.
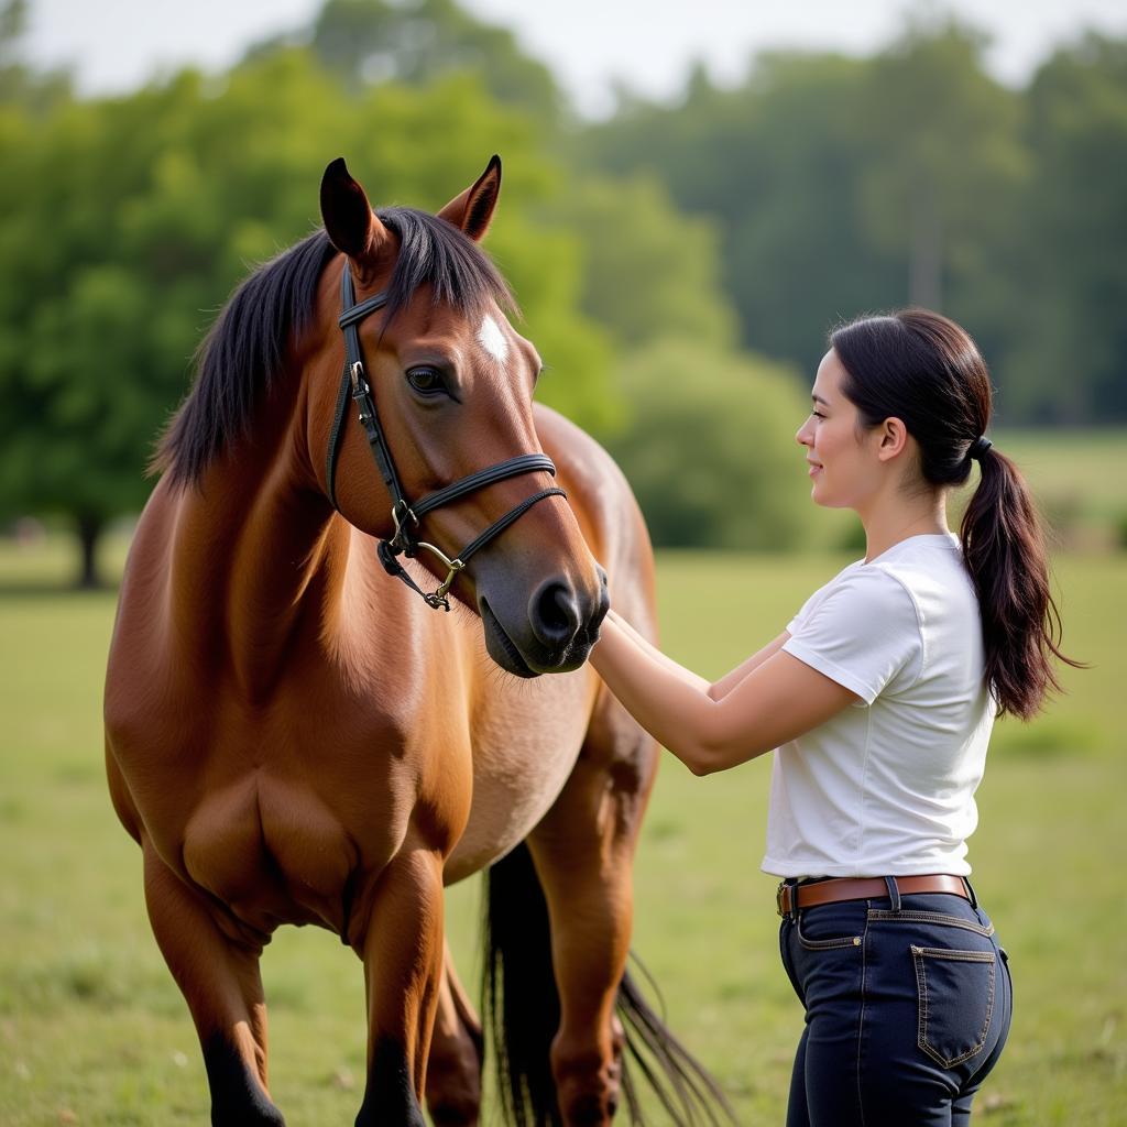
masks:
<path fill-rule="evenodd" d="M 485 879 L 481 1010 L 506 1119 L 516 1127 L 561 1127 L 550 1063 L 560 1002 L 548 904 L 527 845 L 522 843 L 495 863 Z M 656 991 L 653 978 L 638 966 Z M 664 1015 L 646 1001 L 629 970 L 619 984 L 616 1009 L 625 1033 L 622 1094 L 630 1124 L 646 1124 L 639 1079 L 676 1127 L 735 1122 L 716 1080 L 669 1032 Z"/>

